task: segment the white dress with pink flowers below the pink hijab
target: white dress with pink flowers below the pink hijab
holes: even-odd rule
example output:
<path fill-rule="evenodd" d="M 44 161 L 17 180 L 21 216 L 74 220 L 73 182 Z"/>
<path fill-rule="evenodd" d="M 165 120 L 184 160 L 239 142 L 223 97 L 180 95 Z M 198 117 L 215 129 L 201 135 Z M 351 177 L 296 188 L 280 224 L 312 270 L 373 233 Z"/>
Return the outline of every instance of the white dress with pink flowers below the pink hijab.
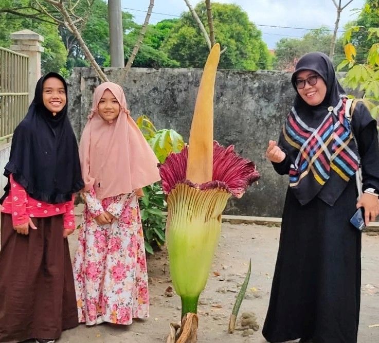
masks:
<path fill-rule="evenodd" d="M 142 224 L 135 193 L 96 198 L 85 193 L 86 206 L 74 259 L 79 322 L 131 324 L 149 316 L 148 275 Z M 108 211 L 116 220 L 99 225 Z"/>

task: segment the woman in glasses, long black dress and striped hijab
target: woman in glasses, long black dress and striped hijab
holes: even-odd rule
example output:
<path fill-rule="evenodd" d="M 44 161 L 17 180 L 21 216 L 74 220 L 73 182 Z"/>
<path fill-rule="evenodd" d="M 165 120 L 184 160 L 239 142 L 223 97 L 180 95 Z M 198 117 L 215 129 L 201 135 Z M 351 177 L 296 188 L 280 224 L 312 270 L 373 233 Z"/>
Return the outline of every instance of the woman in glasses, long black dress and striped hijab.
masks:
<path fill-rule="evenodd" d="M 269 342 L 356 343 L 361 232 L 350 218 L 358 207 L 366 224 L 379 213 L 376 121 L 358 102 L 349 123 L 347 96 L 323 53 L 303 56 L 291 81 L 294 105 L 266 152 L 290 185 L 262 333 Z"/>

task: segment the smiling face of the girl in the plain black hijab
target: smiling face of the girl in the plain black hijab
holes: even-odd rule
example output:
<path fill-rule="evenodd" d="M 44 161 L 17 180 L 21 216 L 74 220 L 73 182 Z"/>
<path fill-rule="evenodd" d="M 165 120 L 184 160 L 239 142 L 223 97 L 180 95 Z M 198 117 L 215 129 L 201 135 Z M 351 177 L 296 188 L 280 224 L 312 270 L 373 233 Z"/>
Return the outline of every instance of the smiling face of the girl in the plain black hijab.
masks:
<path fill-rule="evenodd" d="M 45 80 L 42 86 L 42 100 L 46 109 L 49 110 L 53 116 L 61 112 L 67 102 L 63 82 L 53 77 Z"/>

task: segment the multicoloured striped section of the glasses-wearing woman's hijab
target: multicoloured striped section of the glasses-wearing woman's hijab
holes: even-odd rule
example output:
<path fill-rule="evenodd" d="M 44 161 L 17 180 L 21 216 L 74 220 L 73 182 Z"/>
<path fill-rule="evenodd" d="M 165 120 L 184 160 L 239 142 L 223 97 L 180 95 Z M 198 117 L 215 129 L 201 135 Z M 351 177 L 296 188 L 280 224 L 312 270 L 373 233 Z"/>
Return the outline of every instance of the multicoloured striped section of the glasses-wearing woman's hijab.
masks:
<path fill-rule="evenodd" d="M 358 169 L 353 134 L 345 117 L 346 98 L 340 99 L 337 106 L 328 108 L 328 114 L 318 128 L 306 125 L 294 107 L 283 125 L 286 142 L 298 151 L 290 168 L 290 187 L 298 188 L 310 177 L 321 188 L 330 178 L 331 169 L 345 182 Z M 317 186 L 318 185 L 318 186 Z"/>

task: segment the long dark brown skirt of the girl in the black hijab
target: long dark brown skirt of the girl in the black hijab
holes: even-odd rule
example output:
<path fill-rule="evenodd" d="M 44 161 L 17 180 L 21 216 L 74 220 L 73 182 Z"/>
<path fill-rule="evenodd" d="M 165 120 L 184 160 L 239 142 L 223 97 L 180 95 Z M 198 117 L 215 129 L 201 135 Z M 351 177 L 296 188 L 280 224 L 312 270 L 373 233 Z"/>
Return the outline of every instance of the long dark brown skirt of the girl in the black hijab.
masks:
<path fill-rule="evenodd" d="M 2 213 L 0 342 L 60 337 L 78 326 L 78 310 L 63 216 L 33 218 L 24 236 Z"/>

